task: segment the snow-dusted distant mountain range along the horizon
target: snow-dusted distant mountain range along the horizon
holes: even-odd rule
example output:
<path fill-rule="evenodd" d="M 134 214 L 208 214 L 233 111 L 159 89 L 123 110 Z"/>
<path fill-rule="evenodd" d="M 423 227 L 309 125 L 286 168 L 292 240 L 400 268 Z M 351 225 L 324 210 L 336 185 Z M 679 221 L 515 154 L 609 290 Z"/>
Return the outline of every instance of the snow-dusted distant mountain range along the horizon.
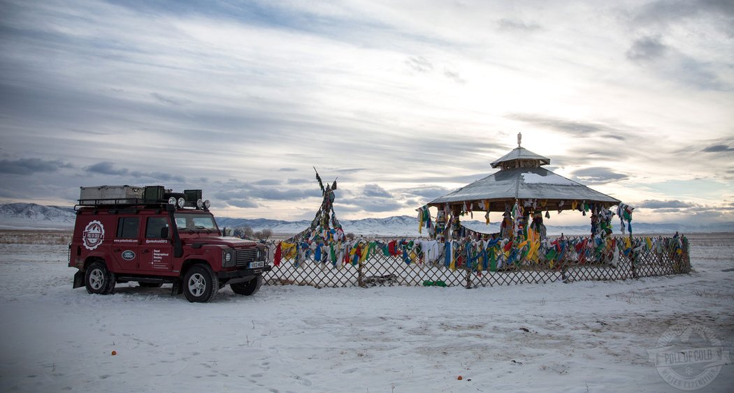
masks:
<path fill-rule="evenodd" d="M 216 213 L 216 212 L 215 212 Z M 0 229 L 71 229 L 75 214 L 72 207 L 43 206 L 34 203 L 0 204 Z M 418 237 L 418 220 L 411 216 L 387 218 L 363 218 L 360 220 L 339 220 L 344 232 L 355 235 L 382 235 Z M 310 221 L 282 221 L 267 218 L 228 218 L 217 217 L 219 227 L 250 227 L 255 231 L 271 229 L 273 233 L 294 235 L 310 225 Z M 499 224 L 486 225 L 481 221 L 464 221 L 470 229 L 479 232 L 499 232 Z M 694 233 L 694 232 L 734 232 L 734 222 L 708 225 L 682 224 L 645 224 L 633 222 L 635 233 Z M 619 230 L 619 224 L 614 226 Z M 424 228 L 423 235 L 426 235 Z M 548 225 L 548 235 L 578 235 L 589 233 L 589 225 L 557 227 Z"/>

